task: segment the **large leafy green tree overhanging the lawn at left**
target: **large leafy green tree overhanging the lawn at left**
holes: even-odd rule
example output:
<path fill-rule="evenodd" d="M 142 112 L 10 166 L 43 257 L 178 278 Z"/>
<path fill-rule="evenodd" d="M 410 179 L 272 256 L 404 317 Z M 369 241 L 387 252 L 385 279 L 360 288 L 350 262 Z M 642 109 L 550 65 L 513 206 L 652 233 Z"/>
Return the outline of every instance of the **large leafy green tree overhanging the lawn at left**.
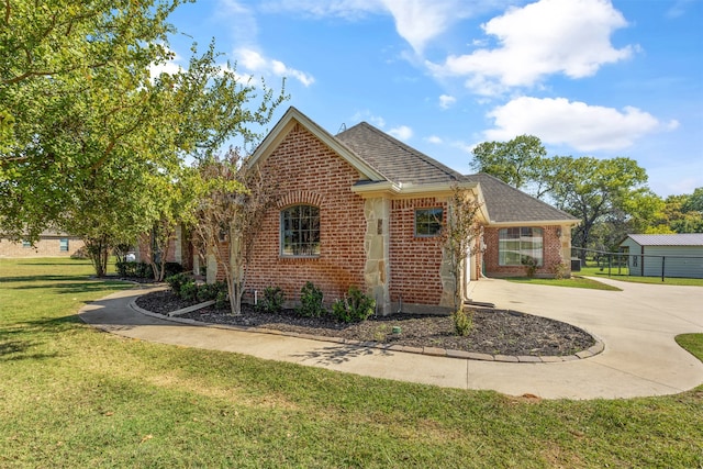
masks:
<path fill-rule="evenodd" d="M 250 109 L 257 90 L 216 65 L 213 44 L 202 55 L 193 46 L 187 69 L 150 76 L 172 57 L 166 19 L 180 3 L 48 0 L 35 8 L 5 0 L 0 116 L 12 124 L 1 127 L 4 233 L 36 239 L 58 224 L 99 239 L 97 256 L 105 257 L 126 232 L 163 220 L 172 201 L 156 181 L 172 182 L 186 155 L 210 155 L 233 135 L 257 137 L 249 125 L 267 123 L 283 96 L 274 99 L 263 83 Z M 125 232 L 123 220 L 134 226 Z"/>

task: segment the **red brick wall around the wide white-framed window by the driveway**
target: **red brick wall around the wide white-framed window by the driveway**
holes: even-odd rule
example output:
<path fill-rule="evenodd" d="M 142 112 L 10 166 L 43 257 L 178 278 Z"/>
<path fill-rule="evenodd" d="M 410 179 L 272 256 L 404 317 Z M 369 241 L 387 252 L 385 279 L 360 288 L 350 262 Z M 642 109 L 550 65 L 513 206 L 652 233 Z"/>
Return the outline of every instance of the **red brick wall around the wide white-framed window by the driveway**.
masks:
<path fill-rule="evenodd" d="M 560 261 L 561 242 L 557 235 L 560 226 L 537 226 L 543 230 L 543 266 L 535 271 L 537 277 L 554 277 L 554 265 Z M 488 277 L 523 277 L 526 268 L 523 266 L 500 266 L 498 257 L 498 241 L 500 228 L 487 227 L 483 232 L 483 241 L 486 243 L 486 253 L 483 261 L 486 263 L 486 275 Z M 568 260 L 568 259 L 567 259 Z"/>

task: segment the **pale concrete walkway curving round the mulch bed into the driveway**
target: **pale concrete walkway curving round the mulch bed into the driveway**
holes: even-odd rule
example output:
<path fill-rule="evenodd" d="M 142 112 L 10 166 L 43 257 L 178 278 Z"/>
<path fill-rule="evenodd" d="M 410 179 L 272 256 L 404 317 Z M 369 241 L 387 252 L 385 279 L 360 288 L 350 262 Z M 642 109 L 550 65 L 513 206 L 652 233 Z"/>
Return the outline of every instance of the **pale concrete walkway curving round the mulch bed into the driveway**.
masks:
<path fill-rule="evenodd" d="M 471 283 L 475 301 L 577 325 L 605 344 L 587 359 L 510 364 L 433 357 L 275 334 L 189 325 L 130 306 L 144 289 L 114 293 L 80 311 L 104 331 L 142 340 L 247 354 L 377 378 L 440 387 L 535 394 L 544 399 L 673 394 L 703 382 L 703 364 L 673 337 L 703 333 L 703 288 L 611 280 L 624 291 L 600 291 L 484 279 Z"/>

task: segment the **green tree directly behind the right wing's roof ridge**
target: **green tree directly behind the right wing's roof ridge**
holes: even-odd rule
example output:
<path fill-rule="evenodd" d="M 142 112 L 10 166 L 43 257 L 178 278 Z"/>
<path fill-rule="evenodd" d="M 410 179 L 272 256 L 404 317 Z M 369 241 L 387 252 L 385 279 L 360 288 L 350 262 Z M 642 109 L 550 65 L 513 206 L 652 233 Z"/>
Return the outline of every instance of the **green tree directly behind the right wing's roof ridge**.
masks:
<path fill-rule="evenodd" d="M 528 190 L 542 198 L 549 187 L 547 150 L 538 137 L 520 135 L 509 142 L 483 142 L 473 150 L 473 170 L 495 176 L 515 189 Z"/>

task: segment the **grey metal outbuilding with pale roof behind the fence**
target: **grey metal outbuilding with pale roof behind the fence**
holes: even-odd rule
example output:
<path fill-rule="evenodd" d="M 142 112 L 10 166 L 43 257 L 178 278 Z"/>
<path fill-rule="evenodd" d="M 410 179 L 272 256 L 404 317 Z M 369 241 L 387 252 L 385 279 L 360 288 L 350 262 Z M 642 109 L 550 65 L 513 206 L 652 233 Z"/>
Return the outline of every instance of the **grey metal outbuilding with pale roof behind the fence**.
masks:
<path fill-rule="evenodd" d="M 631 234 L 620 246 L 631 276 L 703 278 L 703 233 Z"/>

